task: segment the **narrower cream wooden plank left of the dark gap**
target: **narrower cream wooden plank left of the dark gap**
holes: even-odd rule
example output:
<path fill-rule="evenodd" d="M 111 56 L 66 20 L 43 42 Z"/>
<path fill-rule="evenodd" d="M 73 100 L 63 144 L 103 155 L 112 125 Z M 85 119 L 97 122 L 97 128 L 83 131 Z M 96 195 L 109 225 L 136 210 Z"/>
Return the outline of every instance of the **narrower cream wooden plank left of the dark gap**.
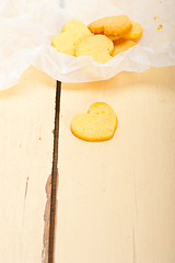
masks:
<path fill-rule="evenodd" d="M 23 73 L 18 85 L 0 92 L 3 263 L 40 263 L 44 259 L 45 185 L 52 167 L 55 93 L 56 81 L 34 67 Z"/>

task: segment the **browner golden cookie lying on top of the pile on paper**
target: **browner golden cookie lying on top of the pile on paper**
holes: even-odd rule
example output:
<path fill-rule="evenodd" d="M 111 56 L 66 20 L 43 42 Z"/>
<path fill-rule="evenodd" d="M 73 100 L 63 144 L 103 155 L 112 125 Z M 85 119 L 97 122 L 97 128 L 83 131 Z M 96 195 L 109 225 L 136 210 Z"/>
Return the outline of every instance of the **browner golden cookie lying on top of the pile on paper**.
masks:
<path fill-rule="evenodd" d="M 131 21 L 127 15 L 106 16 L 88 25 L 93 34 L 104 34 L 113 36 L 115 39 L 127 34 L 131 30 Z"/>

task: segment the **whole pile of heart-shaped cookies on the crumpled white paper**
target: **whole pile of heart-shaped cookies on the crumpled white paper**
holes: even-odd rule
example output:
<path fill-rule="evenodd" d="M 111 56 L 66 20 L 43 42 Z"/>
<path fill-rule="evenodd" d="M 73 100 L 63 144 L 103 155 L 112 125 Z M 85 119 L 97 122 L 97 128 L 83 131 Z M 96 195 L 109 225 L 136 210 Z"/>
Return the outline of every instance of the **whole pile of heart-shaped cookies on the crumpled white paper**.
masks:
<path fill-rule="evenodd" d="M 135 39 L 142 35 L 142 31 L 141 25 L 127 15 L 106 16 L 88 26 L 72 19 L 52 38 L 51 45 L 60 53 L 75 57 L 91 56 L 94 61 L 105 64 L 135 46 Z"/>

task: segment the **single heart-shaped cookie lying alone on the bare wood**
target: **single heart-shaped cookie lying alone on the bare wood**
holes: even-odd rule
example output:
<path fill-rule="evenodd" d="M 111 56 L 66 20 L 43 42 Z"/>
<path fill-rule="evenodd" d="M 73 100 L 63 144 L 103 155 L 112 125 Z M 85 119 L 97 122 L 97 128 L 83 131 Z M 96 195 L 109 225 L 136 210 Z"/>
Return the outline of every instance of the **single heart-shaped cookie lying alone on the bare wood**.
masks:
<path fill-rule="evenodd" d="M 107 103 L 95 102 L 88 114 L 79 114 L 72 118 L 71 130 L 82 140 L 103 141 L 113 138 L 117 125 L 113 108 Z"/>

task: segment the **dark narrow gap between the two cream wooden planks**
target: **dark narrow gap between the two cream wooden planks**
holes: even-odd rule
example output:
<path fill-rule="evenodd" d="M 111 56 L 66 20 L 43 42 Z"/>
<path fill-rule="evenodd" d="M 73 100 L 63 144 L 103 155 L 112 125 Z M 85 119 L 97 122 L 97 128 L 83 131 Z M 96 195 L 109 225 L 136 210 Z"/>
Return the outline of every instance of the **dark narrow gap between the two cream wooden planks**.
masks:
<path fill-rule="evenodd" d="M 52 171 L 51 171 L 51 199 L 50 199 L 48 263 L 54 263 L 54 252 L 55 252 L 55 233 L 56 233 L 56 217 L 57 217 L 57 185 L 58 185 L 58 167 L 57 165 L 58 165 L 58 142 L 59 142 L 58 140 L 59 140 L 60 95 L 61 95 L 61 82 L 57 81 Z"/>

